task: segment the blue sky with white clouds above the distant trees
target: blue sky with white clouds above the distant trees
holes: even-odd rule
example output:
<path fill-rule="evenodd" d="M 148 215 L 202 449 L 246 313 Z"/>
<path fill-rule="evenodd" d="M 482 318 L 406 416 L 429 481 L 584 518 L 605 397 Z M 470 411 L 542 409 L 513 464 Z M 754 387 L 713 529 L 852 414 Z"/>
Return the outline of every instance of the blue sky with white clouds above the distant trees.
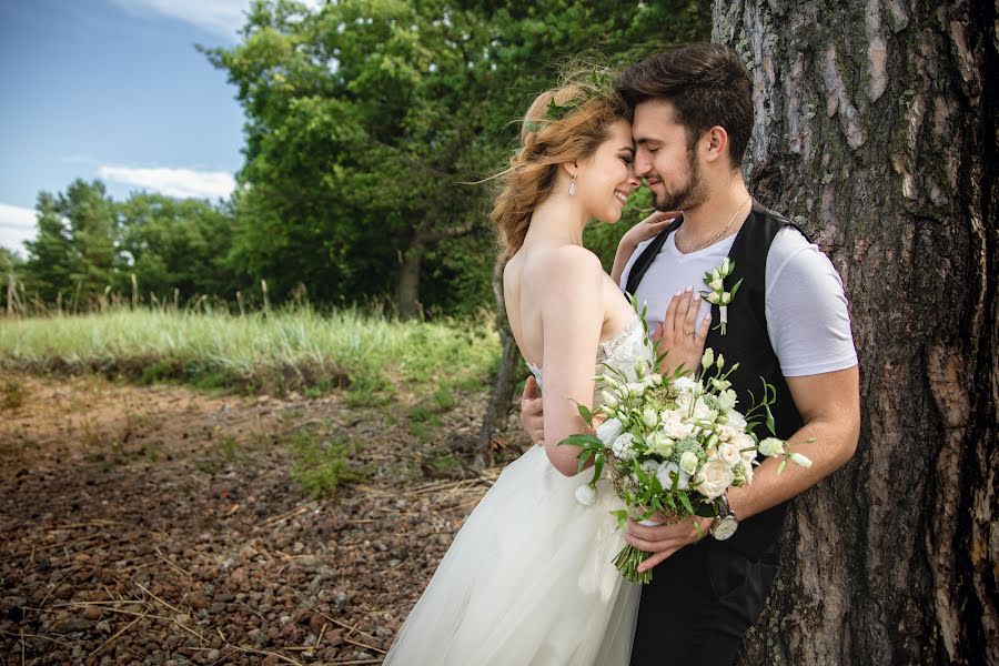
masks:
<path fill-rule="evenodd" d="M 40 190 L 104 181 L 226 196 L 235 88 L 194 49 L 232 46 L 249 0 L 0 0 L 0 245 L 34 234 Z"/>

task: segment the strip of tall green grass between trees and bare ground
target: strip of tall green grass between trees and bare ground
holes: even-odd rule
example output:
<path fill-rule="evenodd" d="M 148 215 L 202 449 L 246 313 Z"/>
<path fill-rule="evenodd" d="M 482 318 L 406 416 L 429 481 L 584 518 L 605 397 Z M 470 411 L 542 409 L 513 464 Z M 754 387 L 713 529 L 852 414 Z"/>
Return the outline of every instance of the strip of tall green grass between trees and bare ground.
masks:
<path fill-rule="evenodd" d="M 121 307 L 0 320 L 0 365 L 236 390 L 472 387 L 487 385 L 498 359 L 491 321 L 398 322 L 307 306 L 245 316 Z"/>

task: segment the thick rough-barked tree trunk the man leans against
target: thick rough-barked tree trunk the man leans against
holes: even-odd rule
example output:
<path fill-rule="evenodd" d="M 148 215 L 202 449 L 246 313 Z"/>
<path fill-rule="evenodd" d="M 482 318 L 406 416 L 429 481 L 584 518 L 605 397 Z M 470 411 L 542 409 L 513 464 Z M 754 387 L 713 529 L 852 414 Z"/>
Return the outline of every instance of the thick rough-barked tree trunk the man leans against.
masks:
<path fill-rule="evenodd" d="M 999 664 L 995 26 L 992 2 L 715 1 L 755 84 L 750 189 L 844 278 L 864 416 L 794 503 L 740 664 Z"/>

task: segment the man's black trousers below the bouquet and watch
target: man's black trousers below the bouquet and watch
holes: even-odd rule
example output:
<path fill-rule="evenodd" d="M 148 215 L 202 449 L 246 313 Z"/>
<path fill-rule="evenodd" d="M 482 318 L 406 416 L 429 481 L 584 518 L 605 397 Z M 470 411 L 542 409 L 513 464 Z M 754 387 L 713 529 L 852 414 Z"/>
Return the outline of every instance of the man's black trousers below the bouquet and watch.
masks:
<path fill-rule="evenodd" d="M 731 664 L 776 564 L 776 553 L 750 559 L 709 536 L 674 553 L 642 591 L 632 666 Z"/>

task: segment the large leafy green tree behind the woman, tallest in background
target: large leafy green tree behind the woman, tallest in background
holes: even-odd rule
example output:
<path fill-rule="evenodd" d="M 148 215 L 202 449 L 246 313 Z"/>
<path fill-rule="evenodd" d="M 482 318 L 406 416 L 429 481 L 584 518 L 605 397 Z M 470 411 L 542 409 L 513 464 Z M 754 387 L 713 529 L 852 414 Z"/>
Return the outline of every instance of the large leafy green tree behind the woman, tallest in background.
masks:
<path fill-rule="evenodd" d="M 487 297 L 488 193 L 466 183 L 502 168 L 553 65 L 588 49 L 624 62 L 707 24 L 690 1 L 256 2 L 241 44 L 204 50 L 248 117 L 234 255 L 279 296 L 300 281 L 323 301 L 391 294 L 403 316 L 470 282 Z M 461 273 L 451 251 L 468 253 Z"/>

